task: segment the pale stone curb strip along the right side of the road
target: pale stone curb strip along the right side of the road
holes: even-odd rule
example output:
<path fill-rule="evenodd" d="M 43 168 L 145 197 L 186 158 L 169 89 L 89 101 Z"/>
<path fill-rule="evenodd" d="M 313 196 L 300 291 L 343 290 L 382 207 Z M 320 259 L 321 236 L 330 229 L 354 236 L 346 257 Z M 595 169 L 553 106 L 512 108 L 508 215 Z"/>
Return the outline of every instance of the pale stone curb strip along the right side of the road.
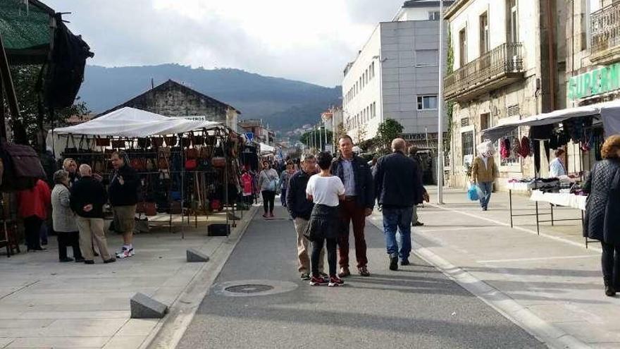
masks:
<path fill-rule="evenodd" d="M 432 206 L 435 205 L 432 204 Z M 380 229 L 380 231 L 383 231 L 383 226 L 380 226 L 373 220 L 369 221 Z M 499 312 L 503 317 L 509 319 L 550 348 L 590 348 L 589 345 L 571 336 L 569 333 L 540 319 L 540 317 L 528 310 L 528 308 L 523 307 L 514 299 L 510 298 L 509 295 L 502 293 L 502 291 L 497 290 L 497 288 L 476 278 L 468 271 L 450 264 L 450 262 L 430 252 L 430 250 L 419 243 L 412 242 L 411 246 L 413 247 L 411 252 L 413 252 L 414 255 L 437 268 L 442 274 L 447 276 L 447 278 L 459 284 L 459 286 L 469 293 L 475 295 L 476 298 L 485 302 L 486 305 L 492 307 L 493 310 Z"/>

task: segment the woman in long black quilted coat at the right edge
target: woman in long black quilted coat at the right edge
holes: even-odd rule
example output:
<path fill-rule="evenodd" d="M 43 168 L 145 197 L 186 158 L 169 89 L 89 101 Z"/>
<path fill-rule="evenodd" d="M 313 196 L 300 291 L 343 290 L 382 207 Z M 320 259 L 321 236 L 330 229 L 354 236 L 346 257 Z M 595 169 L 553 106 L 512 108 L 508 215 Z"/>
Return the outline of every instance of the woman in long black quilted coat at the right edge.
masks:
<path fill-rule="evenodd" d="M 589 193 L 583 236 L 601 243 L 605 294 L 612 297 L 620 289 L 620 135 L 605 140 L 601 155 L 604 160 L 595 164 L 583 185 Z"/>

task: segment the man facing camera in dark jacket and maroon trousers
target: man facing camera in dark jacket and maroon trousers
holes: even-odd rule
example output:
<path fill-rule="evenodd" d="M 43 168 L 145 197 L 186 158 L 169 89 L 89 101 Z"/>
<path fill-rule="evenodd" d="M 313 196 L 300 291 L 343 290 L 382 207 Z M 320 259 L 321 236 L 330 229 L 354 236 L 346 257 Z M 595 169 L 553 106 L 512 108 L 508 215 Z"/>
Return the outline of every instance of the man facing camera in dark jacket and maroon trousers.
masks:
<path fill-rule="evenodd" d="M 343 135 L 338 140 L 340 157 L 334 159 L 331 171 L 334 176 L 340 177 L 345 185 L 345 201 L 340 202 L 340 220 L 342 233 L 338 239 L 338 255 L 342 278 L 351 275 L 349 271 L 349 224 L 353 222 L 353 236 L 355 238 L 355 257 L 357 270 L 361 276 L 370 276 L 368 258 L 366 257 L 366 239 L 364 228 L 366 216 L 373 213 L 375 206 L 375 188 L 370 166 L 361 157 L 353 153 L 353 140 Z"/>

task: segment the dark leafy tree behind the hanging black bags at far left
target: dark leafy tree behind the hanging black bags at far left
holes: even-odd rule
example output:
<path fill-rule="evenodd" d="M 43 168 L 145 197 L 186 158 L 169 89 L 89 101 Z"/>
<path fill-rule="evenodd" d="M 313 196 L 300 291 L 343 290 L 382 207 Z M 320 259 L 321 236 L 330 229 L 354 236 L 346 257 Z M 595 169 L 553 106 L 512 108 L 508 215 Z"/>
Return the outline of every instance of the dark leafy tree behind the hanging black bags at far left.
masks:
<path fill-rule="evenodd" d="M 85 102 L 81 102 L 80 97 L 77 97 L 73 106 L 55 109 L 54 120 L 51 120 L 50 111 L 42 102 L 43 96 L 37 92 L 40 74 L 41 66 L 38 65 L 11 67 L 11 78 L 13 78 L 13 85 L 17 94 L 20 118 L 16 119 L 11 116 L 8 121 L 16 136 L 25 131 L 27 141 L 35 148 L 42 150 L 46 125 L 53 124 L 55 127 L 66 125 L 70 116 L 85 116 L 89 110 Z"/>

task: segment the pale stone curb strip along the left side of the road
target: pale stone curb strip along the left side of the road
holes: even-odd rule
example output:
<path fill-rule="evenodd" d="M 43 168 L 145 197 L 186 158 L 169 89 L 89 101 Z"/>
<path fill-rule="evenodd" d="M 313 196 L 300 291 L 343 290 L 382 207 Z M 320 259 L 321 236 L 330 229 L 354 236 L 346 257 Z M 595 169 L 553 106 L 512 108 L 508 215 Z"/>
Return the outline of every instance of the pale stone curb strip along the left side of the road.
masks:
<path fill-rule="evenodd" d="M 220 274 L 224 264 L 228 262 L 228 258 L 235 250 L 235 247 L 237 247 L 237 243 L 239 243 L 245 231 L 247 231 L 247 227 L 254 219 L 256 212 L 258 212 L 258 209 L 252 207 L 247 212 L 247 215 L 244 216 L 244 219 L 239 221 L 237 228 L 231 232 L 228 240 L 213 252 L 213 255 L 210 256 L 211 260 L 206 262 L 194 276 L 193 280 L 187 284 L 185 290 L 170 306 L 170 313 L 151 331 L 142 345 L 140 345 L 140 349 L 176 348 L 187 330 L 187 326 L 194 319 L 194 314 L 196 314 L 206 293 L 209 292 L 213 285 L 213 281 Z"/>

